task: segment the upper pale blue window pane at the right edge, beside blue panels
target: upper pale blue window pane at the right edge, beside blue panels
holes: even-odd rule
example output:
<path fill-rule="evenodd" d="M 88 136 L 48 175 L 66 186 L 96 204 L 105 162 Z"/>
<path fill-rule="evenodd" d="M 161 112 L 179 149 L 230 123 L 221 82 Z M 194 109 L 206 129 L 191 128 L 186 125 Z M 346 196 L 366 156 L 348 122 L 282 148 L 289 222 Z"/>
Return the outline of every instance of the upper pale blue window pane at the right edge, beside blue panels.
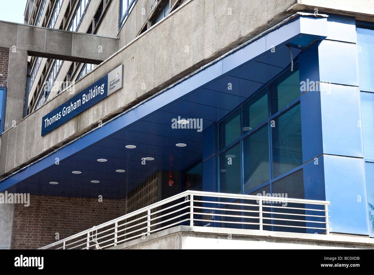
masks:
<path fill-rule="evenodd" d="M 374 91 L 374 29 L 357 28 L 359 86 Z"/>

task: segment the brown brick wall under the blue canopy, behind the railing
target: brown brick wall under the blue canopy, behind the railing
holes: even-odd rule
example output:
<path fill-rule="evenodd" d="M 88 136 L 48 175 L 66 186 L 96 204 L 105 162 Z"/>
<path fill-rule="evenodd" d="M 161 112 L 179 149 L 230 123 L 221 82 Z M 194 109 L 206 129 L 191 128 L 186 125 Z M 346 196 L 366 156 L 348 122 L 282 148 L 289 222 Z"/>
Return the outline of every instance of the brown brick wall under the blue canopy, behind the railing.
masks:
<path fill-rule="evenodd" d="M 126 214 L 126 199 L 30 195 L 15 204 L 11 249 L 36 249 Z"/>

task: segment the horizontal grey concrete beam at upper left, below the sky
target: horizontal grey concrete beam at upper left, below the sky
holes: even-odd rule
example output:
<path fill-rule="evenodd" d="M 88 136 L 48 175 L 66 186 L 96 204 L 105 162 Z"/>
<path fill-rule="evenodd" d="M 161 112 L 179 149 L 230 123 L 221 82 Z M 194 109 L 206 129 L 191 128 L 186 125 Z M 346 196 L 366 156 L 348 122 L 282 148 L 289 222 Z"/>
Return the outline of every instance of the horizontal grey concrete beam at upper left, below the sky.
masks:
<path fill-rule="evenodd" d="M 28 55 L 100 64 L 119 49 L 119 39 L 0 21 L 0 46 Z"/>

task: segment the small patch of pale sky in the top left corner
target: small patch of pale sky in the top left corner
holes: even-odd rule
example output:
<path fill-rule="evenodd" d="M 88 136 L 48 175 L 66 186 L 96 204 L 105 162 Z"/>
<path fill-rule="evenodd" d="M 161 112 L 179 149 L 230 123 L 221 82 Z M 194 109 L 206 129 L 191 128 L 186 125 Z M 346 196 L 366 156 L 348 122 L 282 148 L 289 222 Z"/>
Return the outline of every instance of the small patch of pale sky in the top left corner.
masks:
<path fill-rule="evenodd" d="M 0 0 L 0 20 L 24 24 L 27 0 Z"/>

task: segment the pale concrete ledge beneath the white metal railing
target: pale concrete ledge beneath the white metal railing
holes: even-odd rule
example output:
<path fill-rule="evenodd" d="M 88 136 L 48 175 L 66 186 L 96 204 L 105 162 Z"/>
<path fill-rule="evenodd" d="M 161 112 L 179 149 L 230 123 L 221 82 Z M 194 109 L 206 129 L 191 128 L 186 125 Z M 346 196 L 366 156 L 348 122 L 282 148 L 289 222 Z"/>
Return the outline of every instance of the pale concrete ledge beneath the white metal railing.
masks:
<path fill-rule="evenodd" d="M 373 249 L 374 239 L 200 226 L 176 226 L 108 249 Z"/>

